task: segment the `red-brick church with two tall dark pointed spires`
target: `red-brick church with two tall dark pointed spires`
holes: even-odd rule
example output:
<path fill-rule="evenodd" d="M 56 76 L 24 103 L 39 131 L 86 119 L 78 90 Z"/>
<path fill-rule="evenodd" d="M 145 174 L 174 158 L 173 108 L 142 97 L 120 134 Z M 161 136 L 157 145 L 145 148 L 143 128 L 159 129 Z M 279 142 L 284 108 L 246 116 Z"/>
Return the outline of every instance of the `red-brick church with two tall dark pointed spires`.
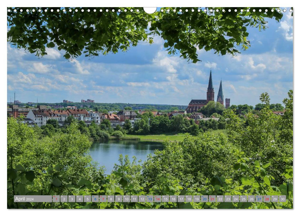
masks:
<path fill-rule="evenodd" d="M 187 113 L 195 113 L 199 112 L 201 107 L 205 106 L 209 101 L 215 100 L 215 92 L 213 90 L 213 79 L 211 76 L 211 70 L 209 75 L 209 81 L 208 81 L 208 88 L 206 92 L 206 100 L 195 100 L 192 99 L 191 102 L 188 104 L 188 108 L 186 108 Z M 220 102 L 222 105 L 224 105 L 224 96 L 223 96 L 223 89 L 222 89 L 222 80 L 220 82 L 220 87 L 218 91 L 217 96 L 217 102 Z M 225 99 L 225 108 L 228 108 L 230 106 L 230 98 Z"/>

